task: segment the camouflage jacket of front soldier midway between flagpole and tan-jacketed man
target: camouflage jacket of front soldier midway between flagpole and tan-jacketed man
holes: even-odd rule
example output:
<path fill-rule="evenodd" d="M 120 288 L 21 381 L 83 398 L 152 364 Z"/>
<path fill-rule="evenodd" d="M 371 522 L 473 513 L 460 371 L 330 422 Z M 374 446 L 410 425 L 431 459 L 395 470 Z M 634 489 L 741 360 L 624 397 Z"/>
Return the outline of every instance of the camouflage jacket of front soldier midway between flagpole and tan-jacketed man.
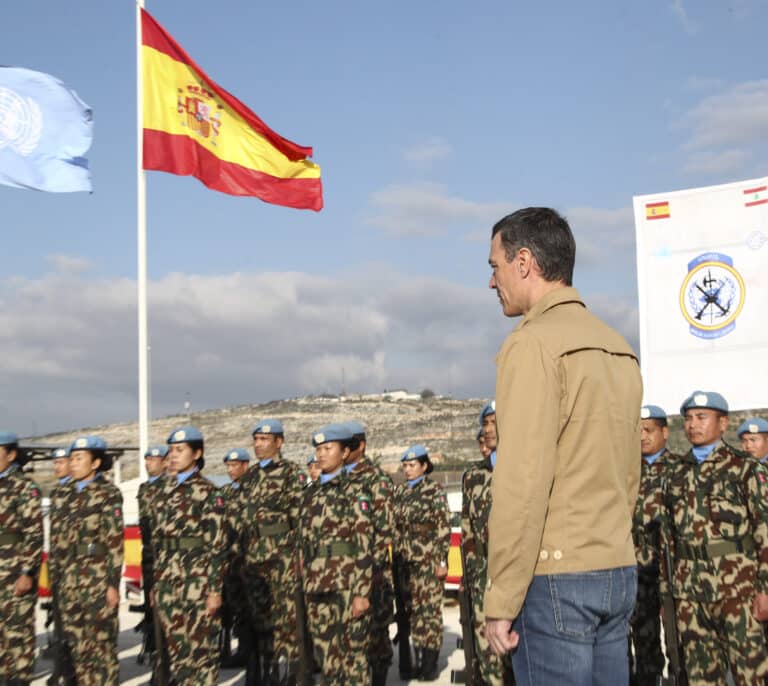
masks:
<path fill-rule="evenodd" d="M 373 581 L 372 497 L 342 472 L 307 491 L 299 531 L 305 593 L 349 590 L 370 596 Z"/>

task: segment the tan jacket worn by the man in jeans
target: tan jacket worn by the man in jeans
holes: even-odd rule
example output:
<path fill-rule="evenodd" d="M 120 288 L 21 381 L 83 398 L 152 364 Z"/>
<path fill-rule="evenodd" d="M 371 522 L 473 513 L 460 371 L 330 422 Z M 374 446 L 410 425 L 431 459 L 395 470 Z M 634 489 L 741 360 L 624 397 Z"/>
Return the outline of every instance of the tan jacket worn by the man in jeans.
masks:
<path fill-rule="evenodd" d="M 566 287 L 536 303 L 496 363 L 485 611 L 514 619 L 534 575 L 635 564 L 642 381 L 627 342 Z"/>

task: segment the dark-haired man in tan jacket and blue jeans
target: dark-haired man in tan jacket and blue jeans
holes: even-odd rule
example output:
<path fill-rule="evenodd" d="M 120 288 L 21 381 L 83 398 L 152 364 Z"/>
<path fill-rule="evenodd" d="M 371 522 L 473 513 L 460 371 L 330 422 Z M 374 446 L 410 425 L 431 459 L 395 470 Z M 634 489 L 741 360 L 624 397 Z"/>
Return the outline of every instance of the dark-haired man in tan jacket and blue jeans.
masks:
<path fill-rule="evenodd" d="M 486 633 L 519 686 L 629 679 L 632 513 L 642 382 L 626 341 L 571 287 L 576 245 L 554 210 L 494 227 L 490 288 L 523 319 L 496 363 Z"/>

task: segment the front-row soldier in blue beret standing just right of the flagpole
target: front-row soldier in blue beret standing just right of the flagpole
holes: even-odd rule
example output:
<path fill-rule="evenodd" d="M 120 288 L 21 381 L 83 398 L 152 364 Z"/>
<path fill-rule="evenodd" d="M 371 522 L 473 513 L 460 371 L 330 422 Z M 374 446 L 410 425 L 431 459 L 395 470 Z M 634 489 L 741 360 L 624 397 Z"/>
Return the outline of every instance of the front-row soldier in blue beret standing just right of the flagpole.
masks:
<path fill-rule="evenodd" d="M 200 430 L 183 426 L 168 437 L 169 471 L 156 510 L 152 598 L 177 686 L 208 686 L 219 675 L 216 637 L 225 564 L 224 499 L 202 475 Z"/>

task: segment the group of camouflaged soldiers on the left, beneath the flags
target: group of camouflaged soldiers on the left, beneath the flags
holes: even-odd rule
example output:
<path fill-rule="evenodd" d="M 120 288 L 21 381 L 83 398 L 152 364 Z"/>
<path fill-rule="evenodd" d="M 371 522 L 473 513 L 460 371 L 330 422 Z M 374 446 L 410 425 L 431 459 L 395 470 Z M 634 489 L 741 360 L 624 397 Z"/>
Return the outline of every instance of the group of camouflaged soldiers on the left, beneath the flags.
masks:
<path fill-rule="evenodd" d="M 450 528 L 427 450 L 403 454 L 406 482 L 395 488 L 366 458 L 358 422 L 312 434 L 309 478 L 282 459 L 279 420 L 251 433 L 255 459 L 229 451 L 232 482 L 223 489 L 203 476 L 195 427 L 145 455 L 149 479 L 138 501 L 153 682 L 217 683 L 220 639 L 231 630 L 238 653 L 227 661 L 245 667 L 249 686 L 314 683 L 318 672 L 326 684 L 383 685 L 395 596 L 401 676 L 435 680 Z M 0 683 L 14 685 L 33 671 L 43 545 L 40 490 L 21 455 L 17 437 L 0 433 Z M 123 513 L 110 468 L 97 436 L 54 451 L 55 683 L 119 683 Z"/>

